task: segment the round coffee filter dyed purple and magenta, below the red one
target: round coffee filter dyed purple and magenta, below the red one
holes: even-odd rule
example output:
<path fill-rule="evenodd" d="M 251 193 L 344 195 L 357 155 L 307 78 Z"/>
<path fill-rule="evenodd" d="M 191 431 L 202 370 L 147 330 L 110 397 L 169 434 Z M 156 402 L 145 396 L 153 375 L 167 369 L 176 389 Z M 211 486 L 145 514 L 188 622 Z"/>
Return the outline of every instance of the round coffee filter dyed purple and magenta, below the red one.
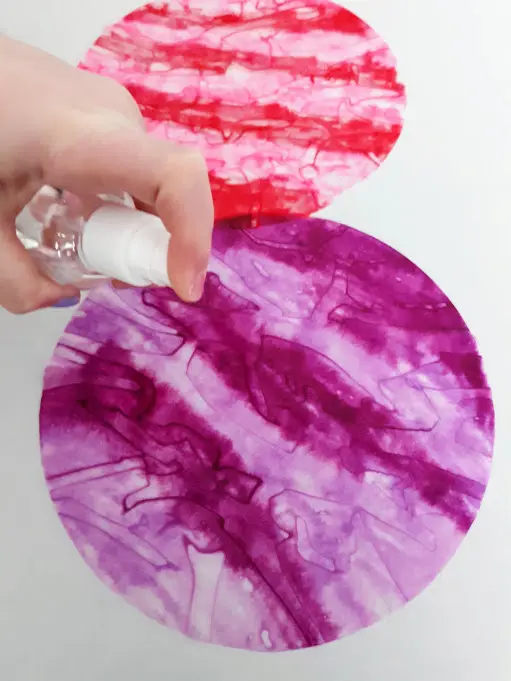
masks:
<path fill-rule="evenodd" d="M 221 224 L 198 304 L 85 301 L 41 443 L 108 586 L 193 638 L 279 651 L 434 579 L 479 508 L 493 406 L 460 315 L 396 251 L 320 219 Z"/>

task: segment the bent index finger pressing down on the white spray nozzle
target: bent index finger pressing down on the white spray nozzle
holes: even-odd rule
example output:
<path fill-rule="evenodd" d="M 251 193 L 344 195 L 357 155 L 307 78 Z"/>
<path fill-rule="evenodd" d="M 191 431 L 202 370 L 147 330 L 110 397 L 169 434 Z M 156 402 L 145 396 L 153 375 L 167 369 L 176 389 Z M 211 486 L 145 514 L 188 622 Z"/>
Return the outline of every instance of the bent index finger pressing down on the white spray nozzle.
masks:
<path fill-rule="evenodd" d="M 63 140 L 49 155 L 44 181 L 75 193 L 123 190 L 153 206 L 172 235 L 172 285 L 184 300 L 198 300 L 213 230 L 213 200 L 202 156 L 117 118 L 84 126 L 82 117 L 74 134 Z"/>

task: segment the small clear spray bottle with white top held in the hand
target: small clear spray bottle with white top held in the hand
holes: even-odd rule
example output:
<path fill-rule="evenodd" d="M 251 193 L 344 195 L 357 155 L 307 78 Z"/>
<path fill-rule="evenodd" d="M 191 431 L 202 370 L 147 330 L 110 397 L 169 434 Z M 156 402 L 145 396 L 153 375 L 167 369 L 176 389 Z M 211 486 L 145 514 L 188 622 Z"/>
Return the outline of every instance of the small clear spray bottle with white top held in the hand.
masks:
<path fill-rule="evenodd" d="M 43 187 L 16 218 L 18 238 L 59 284 L 90 289 L 111 279 L 170 286 L 170 235 L 127 195 L 77 196 Z"/>

